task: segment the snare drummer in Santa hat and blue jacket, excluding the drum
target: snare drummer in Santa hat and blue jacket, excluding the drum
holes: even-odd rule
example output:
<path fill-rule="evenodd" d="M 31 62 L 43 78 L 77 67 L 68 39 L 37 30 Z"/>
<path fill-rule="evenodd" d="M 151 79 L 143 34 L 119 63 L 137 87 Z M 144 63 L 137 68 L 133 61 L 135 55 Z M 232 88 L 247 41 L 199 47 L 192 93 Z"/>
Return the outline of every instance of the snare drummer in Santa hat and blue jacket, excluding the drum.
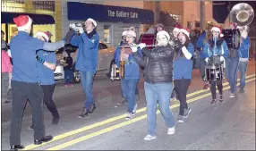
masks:
<path fill-rule="evenodd" d="M 222 29 L 219 27 L 213 27 L 211 29 L 212 38 L 209 38 L 209 41 L 204 45 L 203 55 L 205 57 L 205 62 L 209 63 L 209 58 L 213 55 L 221 55 L 220 62 L 224 63 L 225 58 L 229 55 L 228 48 L 226 46 L 226 41 L 222 38 Z M 223 102 L 223 85 L 222 80 L 211 80 L 210 91 L 212 96 L 211 105 L 216 104 L 216 85 L 219 92 L 219 102 Z"/>

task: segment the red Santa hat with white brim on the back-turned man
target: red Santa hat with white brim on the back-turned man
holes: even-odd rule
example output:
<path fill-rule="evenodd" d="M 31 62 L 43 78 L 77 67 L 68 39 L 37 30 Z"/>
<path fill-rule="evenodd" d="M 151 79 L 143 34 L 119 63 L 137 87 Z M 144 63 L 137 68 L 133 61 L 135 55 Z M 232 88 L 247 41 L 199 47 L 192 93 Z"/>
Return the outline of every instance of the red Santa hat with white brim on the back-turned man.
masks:
<path fill-rule="evenodd" d="M 14 23 L 17 25 L 19 31 L 29 29 L 32 24 L 32 19 L 28 15 L 19 15 L 13 18 Z"/>

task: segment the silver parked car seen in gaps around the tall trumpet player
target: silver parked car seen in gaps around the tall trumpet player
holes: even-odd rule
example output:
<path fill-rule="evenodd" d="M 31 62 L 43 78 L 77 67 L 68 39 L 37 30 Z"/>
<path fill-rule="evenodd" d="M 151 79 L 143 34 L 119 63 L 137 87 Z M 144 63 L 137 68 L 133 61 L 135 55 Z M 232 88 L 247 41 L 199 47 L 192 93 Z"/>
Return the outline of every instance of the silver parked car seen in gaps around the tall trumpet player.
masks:
<path fill-rule="evenodd" d="M 75 83 L 79 83 L 81 81 L 79 71 L 75 70 L 75 63 L 76 63 L 76 53 L 73 53 L 73 80 Z M 114 60 L 115 48 L 108 47 L 106 44 L 99 42 L 98 45 L 98 67 L 96 74 L 106 74 L 110 76 L 111 66 L 112 63 L 115 62 Z M 62 59 L 62 52 L 57 52 L 58 61 L 56 63 L 55 68 L 55 80 L 64 80 L 64 66 L 60 63 Z"/>

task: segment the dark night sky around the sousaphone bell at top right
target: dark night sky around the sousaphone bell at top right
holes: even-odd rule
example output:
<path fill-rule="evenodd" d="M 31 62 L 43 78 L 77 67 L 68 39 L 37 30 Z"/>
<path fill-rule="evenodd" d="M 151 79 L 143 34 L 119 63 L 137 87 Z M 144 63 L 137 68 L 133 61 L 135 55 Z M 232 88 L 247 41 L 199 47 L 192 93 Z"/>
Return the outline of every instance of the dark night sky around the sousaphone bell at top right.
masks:
<path fill-rule="evenodd" d="M 228 4 L 230 4 L 230 10 L 235 4 L 239 3 L 247 3 L 250 4 L 254 10 L 256 11 L 256 2 L 255 1 L 215 1 L 213 2 L 213 18 L 218 23 L 224 23 L 226 17 L 229 14 Z"/>

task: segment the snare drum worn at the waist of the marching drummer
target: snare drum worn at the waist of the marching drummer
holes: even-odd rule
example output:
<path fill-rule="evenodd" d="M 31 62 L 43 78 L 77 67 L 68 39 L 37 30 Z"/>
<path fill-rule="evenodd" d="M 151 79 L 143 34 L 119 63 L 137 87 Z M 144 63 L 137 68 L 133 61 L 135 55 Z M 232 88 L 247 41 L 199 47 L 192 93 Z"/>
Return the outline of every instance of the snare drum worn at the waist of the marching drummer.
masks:
<path fill-rule="evenodd" d="M 222 64 L 219 66 L 212 65 L 205 67 L 206 80 L 223 80 L 223 73 L 224 70 Z"/>

